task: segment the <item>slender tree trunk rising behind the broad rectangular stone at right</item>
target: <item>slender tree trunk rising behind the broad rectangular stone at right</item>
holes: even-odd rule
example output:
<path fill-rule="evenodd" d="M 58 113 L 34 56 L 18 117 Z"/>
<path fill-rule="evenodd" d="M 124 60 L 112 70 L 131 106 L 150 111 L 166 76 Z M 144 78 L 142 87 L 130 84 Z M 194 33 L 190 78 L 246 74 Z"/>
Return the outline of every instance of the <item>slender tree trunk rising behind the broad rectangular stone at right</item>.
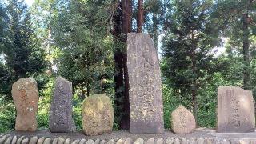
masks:
<path fill-rule="evenodd" d="M 243 87 L 246 90 L 250 90 L 250 54 L 249 54 L 249 17 L 248 14 L 243 14 L 243 38 L 242 38 L 242 52 L 244 60 L 244 69 L 243 69 Z"/>

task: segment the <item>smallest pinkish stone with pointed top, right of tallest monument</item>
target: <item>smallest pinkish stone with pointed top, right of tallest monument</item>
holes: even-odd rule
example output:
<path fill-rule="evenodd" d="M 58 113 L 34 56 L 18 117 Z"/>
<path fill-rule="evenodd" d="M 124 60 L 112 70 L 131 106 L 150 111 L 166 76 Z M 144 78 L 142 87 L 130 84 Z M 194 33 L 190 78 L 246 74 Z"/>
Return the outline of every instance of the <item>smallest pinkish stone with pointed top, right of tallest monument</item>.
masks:
<path fill-rule="evenodd" d="M 195 130 L 196 123 L 189 110 L 186 110 L 184 106 L 178 106 L 171 113 L 171 126 L 174 133 L 186 134 Z"/>

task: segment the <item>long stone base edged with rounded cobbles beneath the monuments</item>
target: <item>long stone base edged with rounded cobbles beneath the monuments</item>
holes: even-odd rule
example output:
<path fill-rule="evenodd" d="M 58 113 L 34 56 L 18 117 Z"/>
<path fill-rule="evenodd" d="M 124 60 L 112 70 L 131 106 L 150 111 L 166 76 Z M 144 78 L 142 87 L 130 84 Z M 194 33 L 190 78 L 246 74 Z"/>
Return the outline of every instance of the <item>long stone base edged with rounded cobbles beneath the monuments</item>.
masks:
<path fill-rule="evenodd" d="M 130 134 L 129 131 L 118 130 L 111 134 L 86 136 L 82 132 L 50 133 L 49 130 L 38 130 L 0 135 L 0 144 L 256 144 L 256 132 L 224 134 L 210 129 L 198 129 L 191 134 L 173 134 L 170 130 L 164 134 Z"/>

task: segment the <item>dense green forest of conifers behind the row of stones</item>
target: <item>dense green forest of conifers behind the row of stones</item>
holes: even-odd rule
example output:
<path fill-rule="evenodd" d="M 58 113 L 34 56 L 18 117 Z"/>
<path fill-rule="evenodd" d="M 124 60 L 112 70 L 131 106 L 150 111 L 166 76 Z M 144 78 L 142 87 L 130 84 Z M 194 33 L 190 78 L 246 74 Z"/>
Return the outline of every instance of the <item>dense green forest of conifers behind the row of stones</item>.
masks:
<path fill-rule="evenodd" d="M 73 82 L 73 110 L 92 94 L 113 100 L 114 129 L 129 129 L 126 34 L 150 34 L 162 69 L 166 129 L 182 104 L 199 126 L 215 127 L 218 86 L 256 99 L 254 0 L 22 0 L 0 2 L 0 132 L 14 130 L 11 86 L 37 80 L 38 129 L 48 128 L 54 78 Z M 255 102 L 254 102 L 255 103 Z"/>

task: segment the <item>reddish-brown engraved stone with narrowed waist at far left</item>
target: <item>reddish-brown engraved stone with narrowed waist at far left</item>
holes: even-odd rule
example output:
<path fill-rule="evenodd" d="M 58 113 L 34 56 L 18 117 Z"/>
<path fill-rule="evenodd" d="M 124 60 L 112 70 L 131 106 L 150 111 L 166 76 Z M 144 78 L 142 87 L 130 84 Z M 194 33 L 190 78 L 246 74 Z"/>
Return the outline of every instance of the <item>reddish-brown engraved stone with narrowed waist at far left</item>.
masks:
<path fill-rule="evenodd" d="M 33 78 L 20 78 L 12 86 L 12 97 L 17 111 L 15 130 L 35 131 L 38 123 L 38 86 Z"/>

